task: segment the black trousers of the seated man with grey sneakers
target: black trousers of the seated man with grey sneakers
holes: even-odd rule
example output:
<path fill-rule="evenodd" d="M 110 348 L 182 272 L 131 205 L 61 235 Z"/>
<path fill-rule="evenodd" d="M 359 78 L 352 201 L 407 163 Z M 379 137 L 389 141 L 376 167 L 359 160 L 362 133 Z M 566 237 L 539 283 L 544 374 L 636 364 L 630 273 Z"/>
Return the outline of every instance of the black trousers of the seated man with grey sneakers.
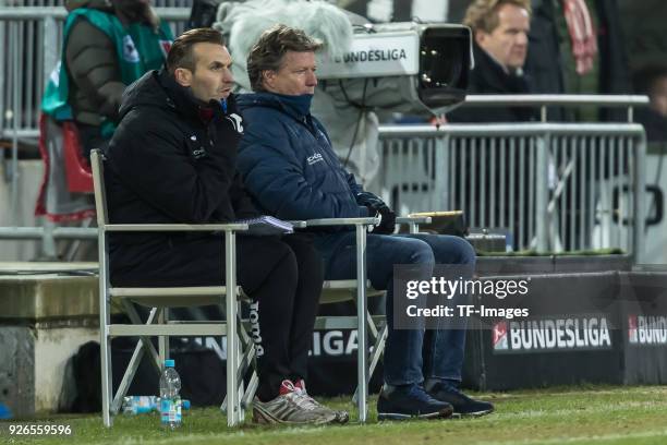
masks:
<path fill-rule="evenodd" d="M 170 239 L 132 255 L 112 252 L 114 286 L 218 286 L 225 282 L 221 237 Z M 137 258 L 141 257 L 141 261 Z M 134 258 L 134 260 L 133 260 Z M 306 380 L 307 357 L 322 292 L 322 258 L 308 234 L 237 238 L 237 278 L 253 300 L 257 397 L 270 400 L 284 378 Z"/>

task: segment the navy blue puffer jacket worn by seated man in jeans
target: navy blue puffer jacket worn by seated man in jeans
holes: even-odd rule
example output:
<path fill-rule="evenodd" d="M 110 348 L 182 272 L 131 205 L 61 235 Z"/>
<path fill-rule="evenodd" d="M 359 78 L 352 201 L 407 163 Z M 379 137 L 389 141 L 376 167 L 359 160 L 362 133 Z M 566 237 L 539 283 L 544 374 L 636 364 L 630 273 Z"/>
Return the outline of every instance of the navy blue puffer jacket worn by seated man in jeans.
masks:
<path fill-rule="evenodd" d="M 341 166 L 322 123 L 298 100 L 271 93 L 238 97 L 245 125 L 238 168 L 245 187 L 265 213 L 281 219 L 368 216 L 356 203 L 361 185 Z M 316 244 L 327 256 L 339 239 L 320 233 Z"/>

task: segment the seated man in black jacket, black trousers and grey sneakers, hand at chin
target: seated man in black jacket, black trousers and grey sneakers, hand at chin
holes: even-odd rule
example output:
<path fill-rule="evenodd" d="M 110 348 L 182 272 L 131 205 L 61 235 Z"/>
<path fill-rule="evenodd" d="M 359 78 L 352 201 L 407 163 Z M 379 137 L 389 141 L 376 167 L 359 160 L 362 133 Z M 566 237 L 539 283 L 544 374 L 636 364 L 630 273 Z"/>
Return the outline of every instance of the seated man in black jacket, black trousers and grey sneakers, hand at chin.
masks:
<path fill-rule="evenodd" d="M 244 123 L 230 94 L 230 64 L 220 33 L 192 29 L 174 41 L 167 70 L 149 72 L 128 88 L 106 153 L 111 222 L 206 224 L 258 215 L 235 169 Z M 223 244 L 215 233 L 113 233 L 111 282 L 220 285 Z M 237 261 L 239 284 L 258 316 L 255 420 L 347 420 L 305 392 L 323 285 L 322 260 L 311 240 L 240 236 Z"/>

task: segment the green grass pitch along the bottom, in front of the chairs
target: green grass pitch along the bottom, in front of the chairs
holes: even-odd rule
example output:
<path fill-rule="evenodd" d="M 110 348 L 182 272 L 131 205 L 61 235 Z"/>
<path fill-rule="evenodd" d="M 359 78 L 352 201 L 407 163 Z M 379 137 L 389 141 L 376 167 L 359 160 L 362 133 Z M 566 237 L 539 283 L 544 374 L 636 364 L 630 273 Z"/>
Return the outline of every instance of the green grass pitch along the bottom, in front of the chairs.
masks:
<path fill-rule="evenodd" d="M 99 414 L 53 416 L 25 422 L 69 424 L 66 437 L 10 436 L 12 420 L 0 423 L 0 443 L 8 444 L 667 444 L 667 386 L 580 386 L 476 394 L 492 400 L 496 412 L 476 419 L 381 422 L 375 397 L 371 419 L 356 422 L 349 398 L 322 400 L 350 409 L 351 422 L 331 426 L 258 426 L 250 412 L 245 424 L 228 429 L 217 408 L 194 408 L 183 426 L 162 431 L 157 414 L 119 416 L 105 429 Z M 23 422 L 23 421 L 22 421 Z"/>

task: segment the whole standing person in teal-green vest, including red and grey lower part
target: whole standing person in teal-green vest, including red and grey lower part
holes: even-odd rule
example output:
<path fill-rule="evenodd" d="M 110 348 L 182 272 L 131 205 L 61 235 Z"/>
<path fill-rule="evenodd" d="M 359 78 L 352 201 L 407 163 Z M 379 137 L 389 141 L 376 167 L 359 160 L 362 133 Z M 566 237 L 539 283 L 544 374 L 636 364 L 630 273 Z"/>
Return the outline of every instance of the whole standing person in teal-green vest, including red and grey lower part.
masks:
<path fill-rule="evenodd" d="M 35 214 L 53 221 L 95 214 L 86 193 L 92 191 L 88 154 L 111 139 L 125 87 L 159 69 L 173 40 L 150 0 L 69 0 L 65 7 L 63 51 L 45 91 L 39 124 L 45 173 Z"/>

